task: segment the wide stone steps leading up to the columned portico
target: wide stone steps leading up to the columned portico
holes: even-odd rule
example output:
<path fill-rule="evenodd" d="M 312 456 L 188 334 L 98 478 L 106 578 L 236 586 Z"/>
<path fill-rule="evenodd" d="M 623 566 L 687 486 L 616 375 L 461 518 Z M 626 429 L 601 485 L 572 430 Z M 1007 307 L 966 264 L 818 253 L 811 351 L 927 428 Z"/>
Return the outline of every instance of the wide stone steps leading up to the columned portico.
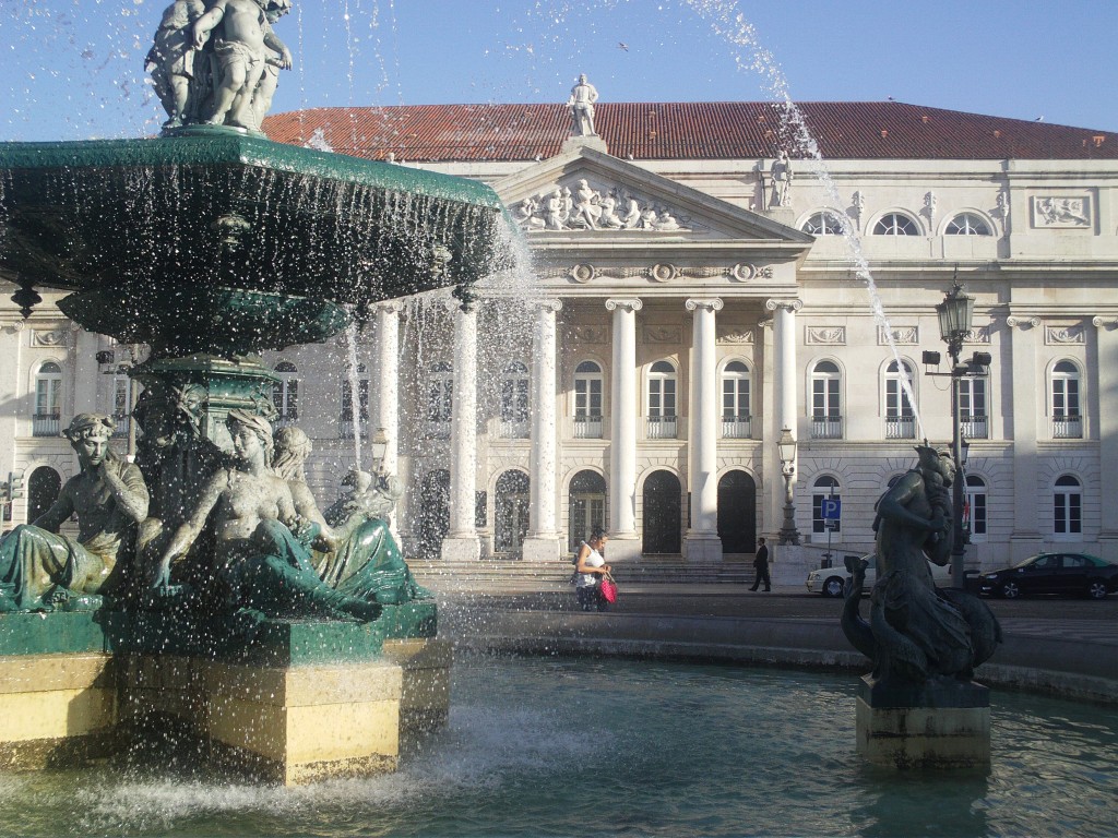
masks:
<path fill-rule="evenodd" d="M 691 564 L 679 555 L 656 555 L 610 564 L 619 583 L 748 584 L 754 580 L 752 556 L 726 556 L 720 563 Z M 569 590 L 574 571 L 567 556 L 559 561 L 409 559 L 408 566 L 419 584 L 439 592 Z"/>

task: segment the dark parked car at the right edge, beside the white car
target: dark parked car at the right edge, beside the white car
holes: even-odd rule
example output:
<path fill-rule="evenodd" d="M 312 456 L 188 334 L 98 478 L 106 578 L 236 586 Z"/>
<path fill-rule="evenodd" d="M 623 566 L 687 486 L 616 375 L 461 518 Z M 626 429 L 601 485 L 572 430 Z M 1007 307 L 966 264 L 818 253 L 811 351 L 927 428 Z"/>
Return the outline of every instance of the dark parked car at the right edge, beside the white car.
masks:
<path fill-rule="evenodd" d="M 1087 553 L 1038 553 L 978 577 L 979 593 L 1006 599 L 1039 593 L 1102 599 L 1116 590 L 1118 564 Z"/>

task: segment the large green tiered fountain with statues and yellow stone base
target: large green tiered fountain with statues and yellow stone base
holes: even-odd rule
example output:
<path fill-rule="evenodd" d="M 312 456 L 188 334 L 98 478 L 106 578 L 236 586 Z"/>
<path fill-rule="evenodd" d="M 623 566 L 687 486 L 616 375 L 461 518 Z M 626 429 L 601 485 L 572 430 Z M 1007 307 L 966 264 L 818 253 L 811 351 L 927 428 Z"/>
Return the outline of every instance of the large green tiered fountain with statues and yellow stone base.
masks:
<path fill-rule="evenodd" d="M 65 289 L 75 322 L 150 346 L 131 372 L 136 463 L 106 453 L 106 417 L 76 417 L 82 474 L 49 523 L 0 544 L 9 675 L 55 683 L 0 743 L 11 764 L 174 726 L 304 782 L 394 768 L 401 731 L 445 720 L 435 603 L 385 524 L 398 489 L 359 473 L 323 514 L 297 463 L 277 477 L 273 454 L 278 470 L 309 445 L 273 440 L 258 353 L 383 299 L 468 305 L 501 204 L 475 181 L 266 140 L 288 7 L 168 7 L 148 58 L 160 139 L 0 144 L 0 266 L 23 315 L 37 288 Z M 55 534 L 73 512 L 78 537 Z"/>

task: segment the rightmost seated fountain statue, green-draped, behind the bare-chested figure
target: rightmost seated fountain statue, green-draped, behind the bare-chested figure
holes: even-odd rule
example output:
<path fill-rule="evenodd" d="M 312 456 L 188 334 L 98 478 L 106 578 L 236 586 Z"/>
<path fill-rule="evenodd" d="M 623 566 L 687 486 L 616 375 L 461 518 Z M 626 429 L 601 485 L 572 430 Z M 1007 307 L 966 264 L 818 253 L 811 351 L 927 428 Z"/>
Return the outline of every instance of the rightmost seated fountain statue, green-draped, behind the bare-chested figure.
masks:
<path fill-rule="evenodd" d="M 281 428 L 275 435 L 275 470 L 287 480 L 295 510 L 319 526 L 330 550 L 315 554 L 319 577 L 334 590 L 370 602 L 398 604 L 429 599 L 432 593 L 416 584 L 387 518 L 402 487 L 394 477 L 354 469 L 344 484 L 352 492 L 326 510 L 319 511 L 306 485 L 304 464 L 311 440 L 300 428 Z"/>

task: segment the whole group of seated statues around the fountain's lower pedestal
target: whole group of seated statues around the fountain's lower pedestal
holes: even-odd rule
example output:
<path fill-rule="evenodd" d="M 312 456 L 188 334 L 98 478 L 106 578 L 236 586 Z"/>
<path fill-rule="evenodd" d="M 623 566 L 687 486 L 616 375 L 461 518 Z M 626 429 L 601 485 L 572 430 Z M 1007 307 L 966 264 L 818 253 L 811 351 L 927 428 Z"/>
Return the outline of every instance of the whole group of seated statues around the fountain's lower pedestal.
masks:
<path fill-rule="evenodd" d="M 369 621 L 383 604 L 430 597 L 386 523 L 401 494 L 395 478 L 353 472 L 349 494 L 323 514 L 306 485 L 302 430 L 273 435 L 240 409 L 226 425 L 231 454 L 164 530 L 148 517 L 140 468 L 108 445 L 112 419 L 76 416 L 65 436 L 80 473 L 37 521 L 0 540 L 0 611 L 152 608 L 191 587 L 228 613 Z M 60 534 L 75 514 L 77 536 Z"/>

